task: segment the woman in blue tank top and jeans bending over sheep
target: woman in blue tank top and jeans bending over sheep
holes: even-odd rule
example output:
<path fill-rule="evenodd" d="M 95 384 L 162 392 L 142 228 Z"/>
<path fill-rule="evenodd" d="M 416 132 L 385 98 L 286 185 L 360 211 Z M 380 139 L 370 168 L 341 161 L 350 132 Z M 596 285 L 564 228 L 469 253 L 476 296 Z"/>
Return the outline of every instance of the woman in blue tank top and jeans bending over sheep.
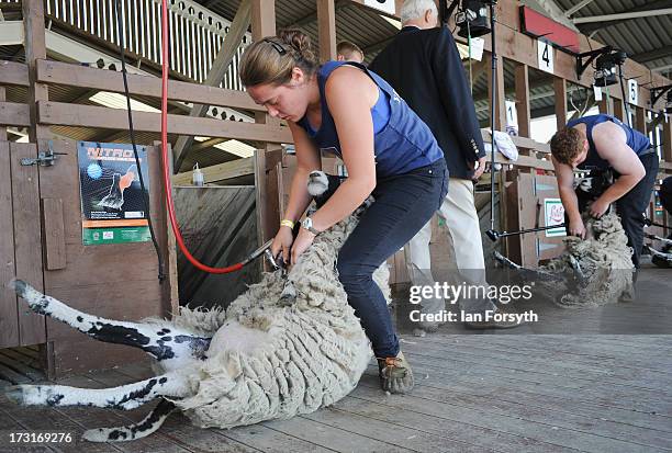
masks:
<path fill-rule="evenodd" d="M 287 121 L 296 171 L 271 251 L 296 262 L 315 237 L 350 215 L 369 195 L 367 209 L 338 254 L 348 303 L 371 340 L 382 388 L 408 392 L 413 374 L 399 348 L 385 299 L 372 280 L 378 267 L 406 244 L 439 207 L 448 190 L 446 163 L 429 128 L 382 78 L 356 63 L 318 66 L 307 36 L 283 31 L 250 45 L 240 79 L 253 100 Z M 310 204 L 309 173 L 321 151 L 340 157 L 348 179 L 329 201 L 292 227 Z"/>

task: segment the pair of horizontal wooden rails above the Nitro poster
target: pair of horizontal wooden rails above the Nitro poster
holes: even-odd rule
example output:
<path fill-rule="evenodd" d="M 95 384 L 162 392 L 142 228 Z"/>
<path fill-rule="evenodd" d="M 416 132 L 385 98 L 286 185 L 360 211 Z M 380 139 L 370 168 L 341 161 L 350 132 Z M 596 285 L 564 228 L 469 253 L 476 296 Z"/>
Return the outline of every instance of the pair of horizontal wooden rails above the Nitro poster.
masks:
<path fill-rule="evenodd" d="M 0 65 L 0 84 L 27 86 L 27 68 L 16 63 Z M 123 92 L 120 72 L 86 68 L 65 63 L 37 61 L 37 82 L 61 84 L 94 90 Z M 160 97 L 161 80 L 152 76 L 128 75 L 131 94 Z M 168 97 L 183 102 L 204 103 L 250 112 L 259 112 L 246 93 L 197 83 L 170 81 Z M 108 129 L 128 127 L 126 112 L 104 106 L 82 105 L 52 101 L 37 102 L 37 123 L 48 126 L 79 126 Z M 133 113 L 134 127 L 138 132 L 160 132 L 160 114 Z M 0 124 L 5 126 L 30 126 L 29 106 L 0 102 Z M 272 124 L 255 124 L 217 118 L 199 118 L 188 115 L 168 115 L 168 133 L 208 137 L 233 138 L 264 143 L 290 143 L 289 128 Z"/>

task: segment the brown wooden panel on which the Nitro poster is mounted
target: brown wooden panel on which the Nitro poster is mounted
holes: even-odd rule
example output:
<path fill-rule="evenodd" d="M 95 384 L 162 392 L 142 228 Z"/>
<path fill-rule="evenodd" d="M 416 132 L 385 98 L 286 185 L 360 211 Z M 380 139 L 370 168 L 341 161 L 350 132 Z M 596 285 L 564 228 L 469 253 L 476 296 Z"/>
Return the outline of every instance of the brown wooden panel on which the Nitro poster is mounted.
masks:
<path fill-rule="evenodd" d="M 147 316 L 168 316 L 172 302 L 167 299 L 164 286 L 170 285 L 170 280 L 159 284 L 158 262 L 152 241 L 82 245 L 77 143 L 54 140 L 53 144 L 54 150 L 64 155 L 58 157 L 53 167 L 40 168 L 41 194 L 43 203 L 46 200 L 48 203 L 58 200 L 57 204 L 61 205 L 61 209 L 52 209 L 53 217 L 43 218 L 42 223 L 63 225 L 61 235 L 45 231 L 45 247 L 63 247 L 65 267 L 45 269 L 46 293 L 74 308 L 111 319 L 132 321 Z M 159 155 L 156 148 L 148 147 L 147 156 L 149 181 L 146 183 L 149 186 L 152 219 L 163 257 L 170 262 L 171 258 L 167 253 L 175 251 L 167 247 Z M 27 168 L 37 170 L 36 167 Z M 45 212 L 46 214 L 48 213 Z M 35 222 L 37 225 L 41 223 L 40 219 Z M 36 244 L 40 245 L 40 240 Z M 175 262 L 175 258 L 172 261 Z M 26 280 L 33 282 L 33 279 Z M 144 353 L 138 350 L 91 340 L 51 318 L 47 319 L 46 340 L 53 347 L 55 375 L 110 367 L 144 359 Z"/>

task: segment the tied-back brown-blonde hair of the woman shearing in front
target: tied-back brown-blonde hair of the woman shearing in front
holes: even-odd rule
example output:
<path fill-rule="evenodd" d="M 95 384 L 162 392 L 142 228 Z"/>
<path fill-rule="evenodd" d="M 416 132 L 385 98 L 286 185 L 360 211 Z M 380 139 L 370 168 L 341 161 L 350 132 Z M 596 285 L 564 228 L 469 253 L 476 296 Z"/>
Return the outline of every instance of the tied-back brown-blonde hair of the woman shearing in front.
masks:
<path fill-rule="evenodd" d="M 277 36 L 267 36 L 245 49 L 238 75 L 245 87 L 279 86 L 291 80 L 295 67 L 310 77 L 317 66 L 311 39 L 300 30 L 282 30 Z"/>

